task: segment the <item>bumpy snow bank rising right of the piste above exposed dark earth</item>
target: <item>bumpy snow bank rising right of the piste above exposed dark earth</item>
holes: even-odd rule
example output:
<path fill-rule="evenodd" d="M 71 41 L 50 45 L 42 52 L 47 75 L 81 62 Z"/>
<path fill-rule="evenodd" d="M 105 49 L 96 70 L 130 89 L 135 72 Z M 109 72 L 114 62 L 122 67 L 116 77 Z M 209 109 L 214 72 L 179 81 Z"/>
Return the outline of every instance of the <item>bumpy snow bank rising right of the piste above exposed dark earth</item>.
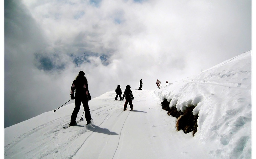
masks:
<path fill-rule="evenodd" d="M 252 52 L 224 61 L 198 76 L 155 91 L 184 111 L 196 106 L 199 115 L 195 137 L 218 158 L 251 158 Z"/>

